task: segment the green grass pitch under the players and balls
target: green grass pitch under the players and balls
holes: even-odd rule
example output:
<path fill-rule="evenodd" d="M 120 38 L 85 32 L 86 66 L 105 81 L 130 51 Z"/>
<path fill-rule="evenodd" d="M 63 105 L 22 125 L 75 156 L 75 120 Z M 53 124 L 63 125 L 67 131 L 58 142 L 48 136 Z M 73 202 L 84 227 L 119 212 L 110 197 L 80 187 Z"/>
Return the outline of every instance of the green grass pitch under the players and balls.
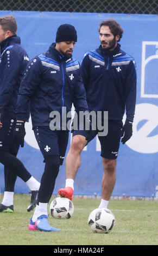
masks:
<path fill-rule="evenodd" d="M 99 199 L 74 198 L 74 214 L 69 220 L 55 220 L 49 215 L 50 225 L 60 228 L 61 232 L 45 233 L 28 230 L 33 215 L 32 211 L 26 210 L 30 197 L 15 194 L 14 214 L 0 213 L 0 245 L 158 244 L 158 202 L 110 200 L 108 208 L 116 217 L 115 226 L 109 234 L 96 234 L 89 228 L 87 220 L 90 212 L 98 208 L 99 202 Z"/>

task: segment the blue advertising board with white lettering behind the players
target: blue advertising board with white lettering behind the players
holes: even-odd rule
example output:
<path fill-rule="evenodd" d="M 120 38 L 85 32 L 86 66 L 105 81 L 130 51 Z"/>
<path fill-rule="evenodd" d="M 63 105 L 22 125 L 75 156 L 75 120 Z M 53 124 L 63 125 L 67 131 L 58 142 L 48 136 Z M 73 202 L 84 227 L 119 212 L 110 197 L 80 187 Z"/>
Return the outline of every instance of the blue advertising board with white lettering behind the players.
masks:
<path fill-rule="evenodd" d="M 73 56 L 81 62 L 84 53 L 99 46 L 98 26 L 102 20 L 115 19 L 124 30 L 121 39 L 123 51 L 135 58 L 137 66 L 137 100 L 134 133 L 120 146 L 117 160 L 117 179 L 112 196 L 158 196 L 158 19 L 156 15 L 52 13 L 34 11 L 0 11 L 0 16 L 14 15 L 22 46 L 33 58 L 47 51 L 55 42 L 56 30 L 64 23 L 72 24 L 78 32 Z M 40 181 L 45 164 L 31 130 L 26 124 L 24 148 L 18 158 Z M 69 136 L 68 148 L 71 143 Z M 67 150 L 68 150 L 67 148 Z M 100 144 L 94 138 L 81 153 L 81 166 L 74 182 L 74 194 L 101 195 L 103 176 Z M 0 166 L 0 187 L 4 191 L 4 172 Z M 65 161 L 60 167 L 54 193 L 65 187 Z M 15 192 L 27 193 L 26 184 L 17 178 Z"/>

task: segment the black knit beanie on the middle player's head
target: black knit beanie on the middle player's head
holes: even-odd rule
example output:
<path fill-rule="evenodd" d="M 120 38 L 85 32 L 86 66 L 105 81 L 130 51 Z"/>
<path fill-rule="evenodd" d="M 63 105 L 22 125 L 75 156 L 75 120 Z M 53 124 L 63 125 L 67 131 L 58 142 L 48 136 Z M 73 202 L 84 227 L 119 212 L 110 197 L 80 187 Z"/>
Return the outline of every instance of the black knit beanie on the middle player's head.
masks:
<path fill-rule="evenodd" d="M 56 42 L 75 41 L 77 42 L 77 31 L 72 25 L 61 25 L 56 32 Z"/>

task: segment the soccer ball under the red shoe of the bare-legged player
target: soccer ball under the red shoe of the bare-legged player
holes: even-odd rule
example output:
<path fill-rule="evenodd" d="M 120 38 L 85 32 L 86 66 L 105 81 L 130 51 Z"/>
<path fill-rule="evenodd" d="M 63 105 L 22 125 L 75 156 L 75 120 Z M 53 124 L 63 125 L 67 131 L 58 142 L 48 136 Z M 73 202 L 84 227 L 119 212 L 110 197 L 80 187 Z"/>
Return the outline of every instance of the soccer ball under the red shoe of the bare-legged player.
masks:
<path fill-rule="evenodd" d="M 70 218 L 73 212 L 73 203 L 68 198 L 56 197 L 50 204 L 50 214 L 54 218 Z"/>

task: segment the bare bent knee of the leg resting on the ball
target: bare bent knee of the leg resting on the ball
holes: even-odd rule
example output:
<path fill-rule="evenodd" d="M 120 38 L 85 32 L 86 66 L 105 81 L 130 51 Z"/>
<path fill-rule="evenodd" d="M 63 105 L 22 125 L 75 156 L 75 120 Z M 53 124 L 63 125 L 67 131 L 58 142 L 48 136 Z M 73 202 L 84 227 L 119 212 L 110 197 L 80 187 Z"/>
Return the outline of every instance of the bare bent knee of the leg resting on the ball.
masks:
<path fill-rule="evenodd" d="M 72 143 L 71 143 L 71 147 L 70 147 L 71 152 L 72 153 L 81 153 L 81 151 L 85 147 L 86 143 L 87 143 L 87 141 L 84 136 L 75 135 L 72 138 Z"/>

